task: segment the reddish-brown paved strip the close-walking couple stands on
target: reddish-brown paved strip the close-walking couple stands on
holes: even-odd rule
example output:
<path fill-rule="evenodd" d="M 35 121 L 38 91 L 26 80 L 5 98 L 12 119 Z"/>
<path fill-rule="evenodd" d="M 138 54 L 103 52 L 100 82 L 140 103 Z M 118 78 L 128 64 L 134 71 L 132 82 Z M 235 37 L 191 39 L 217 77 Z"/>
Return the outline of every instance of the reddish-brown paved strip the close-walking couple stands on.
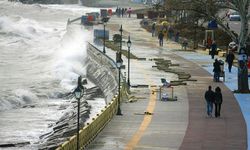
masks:
<path fill-rule="evenodd" d="M 178 57 L 177 57 L 178 58 Z M 247 149 L 246 125 L 233 93 L 198 65 L 185 60 L 186 72 L 197 79 L 187 87 L 189 123 L 181 150 L 244 150 Z M 204 92 L 208 85 L 222 89 L 223 104 L 220 118 L 206 117 Z M 214 112 L 213 112 L 214 116 Z"/>

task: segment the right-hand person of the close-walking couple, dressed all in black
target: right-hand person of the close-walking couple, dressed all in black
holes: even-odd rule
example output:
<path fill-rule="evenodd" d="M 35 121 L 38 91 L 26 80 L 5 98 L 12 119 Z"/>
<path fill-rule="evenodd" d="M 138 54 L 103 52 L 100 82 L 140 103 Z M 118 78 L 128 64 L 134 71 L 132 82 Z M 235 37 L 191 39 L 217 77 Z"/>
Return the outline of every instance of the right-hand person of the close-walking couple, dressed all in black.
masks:
<path fill-rule="evenodd" d="M 221 104 L 223 102 L 220 87 L 215 88 L 214 104 L 215 104 L 215 117 L 220 117 Z"/>

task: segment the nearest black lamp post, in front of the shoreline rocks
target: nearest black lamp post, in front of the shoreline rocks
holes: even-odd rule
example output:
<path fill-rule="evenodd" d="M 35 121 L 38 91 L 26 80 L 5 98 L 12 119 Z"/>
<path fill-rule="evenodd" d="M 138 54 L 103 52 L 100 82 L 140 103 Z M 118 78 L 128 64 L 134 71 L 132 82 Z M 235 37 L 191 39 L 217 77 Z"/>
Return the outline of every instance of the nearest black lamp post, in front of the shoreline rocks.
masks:
<path fill-rule="evenodd" d="M 84 87 L 81 84 L 81 79 L 82 77 L 79 76 L 78 77 L 78 84 L 76 89 L 74 90 L 74 96 L 77 99 L 77 150 L 79 150 L 79 128 L 80 128 L 80 100 L 83 96 L 83 92 L 84 92 Z"/>

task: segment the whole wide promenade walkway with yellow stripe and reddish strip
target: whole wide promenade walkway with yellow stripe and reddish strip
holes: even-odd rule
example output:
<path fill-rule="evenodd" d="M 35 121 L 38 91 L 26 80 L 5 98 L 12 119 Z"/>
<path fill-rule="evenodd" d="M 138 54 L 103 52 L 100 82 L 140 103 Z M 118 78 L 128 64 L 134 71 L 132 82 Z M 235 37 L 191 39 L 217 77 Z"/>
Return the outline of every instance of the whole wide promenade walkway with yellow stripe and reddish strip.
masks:
<path fill-rule="evenodd" d="M 148 88 L 131 88 L 131 96 L 136 101 L 123 102 L 123 115 L 115 116 L 88 149 L 247 149 L 246 124 L 233 93 L 222 82 L 213 82 L 212 75 L 202 68 L 211 65 L 212 60 L 197 59 L 194 52 L 181 52 L 180 46 L 171 41 L 164 41 L 164 47 L 159 47 L 157 38 L 140 28 L 139 20 L 135 18 L 111 18 L 107 26 L 110 34 L 119 33 L 121 24 L 124 35 L 131 36 L 131 52 L 146 58 L 143 61 L 131 60 L 130 82 L 132 85 L 148 85 Z M 106 51 L 107 55 L 115 58 L 115 52 L 110 49 Z M 164 58 L 179 64 L 174 68 L 191 74 L 191 78 L 197 81 L 174 87 L 178 101 L 160 101 L 158 93 L 154 92 L 161 85 L 160 79 L 170 81 L 177 76 L 152 67 L 155 65 L 150 60 L 152 58 Z M 127 64 L 125 57 L 123 60 Z M 222 89 L 224 102 L 220 118 L 206 116 L 204 92 L 208 85 L 213 89 L 216 86 Z M 144 115 L 146 111 L 152 114 Z"/>

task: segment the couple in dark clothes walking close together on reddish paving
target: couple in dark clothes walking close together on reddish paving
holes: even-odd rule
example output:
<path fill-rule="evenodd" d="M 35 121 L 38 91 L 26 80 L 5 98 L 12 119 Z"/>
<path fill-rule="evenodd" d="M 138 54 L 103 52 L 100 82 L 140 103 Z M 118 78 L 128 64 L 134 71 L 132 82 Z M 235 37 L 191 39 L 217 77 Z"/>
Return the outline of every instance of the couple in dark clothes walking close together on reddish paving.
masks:
<path fill-rule="evenodd" d="M 223 101 L 220 87 L 216 87 L 214 92 L 212 87 L 208 86 L 205 99 L 207 103 L 207 115 L 212 117 L 213 104 L 215 104 L 215 117 L 220 117 L 221 104 Z"/>

